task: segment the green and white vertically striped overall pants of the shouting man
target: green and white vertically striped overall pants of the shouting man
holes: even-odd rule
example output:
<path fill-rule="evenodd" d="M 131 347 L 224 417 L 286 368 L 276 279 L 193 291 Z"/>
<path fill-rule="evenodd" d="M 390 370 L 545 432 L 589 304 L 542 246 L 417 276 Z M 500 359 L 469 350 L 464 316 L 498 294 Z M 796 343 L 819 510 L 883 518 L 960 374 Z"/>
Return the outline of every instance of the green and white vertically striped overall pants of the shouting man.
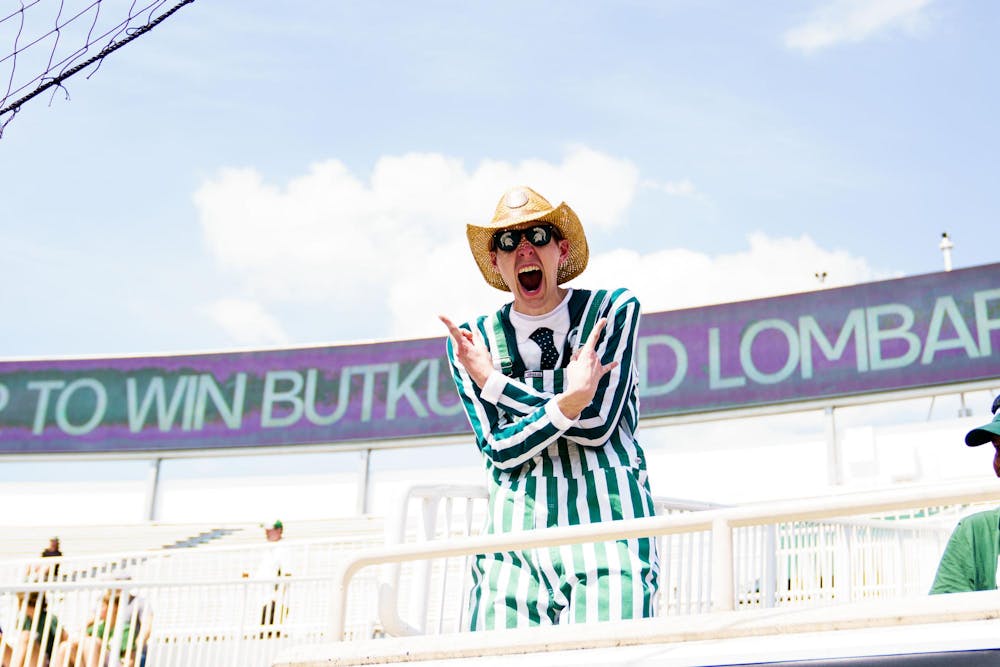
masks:
<path fill-rule="evenodd" d="M 560 466 L 545 466 L 559 470 Z M 652 516 L 646 471 L 608 467 L 574 477 L 492 471 L 487 533 Z M 470 628 L 492 630 L 652 616 L 653 538 L 484 554 L 472 565 Z"/>

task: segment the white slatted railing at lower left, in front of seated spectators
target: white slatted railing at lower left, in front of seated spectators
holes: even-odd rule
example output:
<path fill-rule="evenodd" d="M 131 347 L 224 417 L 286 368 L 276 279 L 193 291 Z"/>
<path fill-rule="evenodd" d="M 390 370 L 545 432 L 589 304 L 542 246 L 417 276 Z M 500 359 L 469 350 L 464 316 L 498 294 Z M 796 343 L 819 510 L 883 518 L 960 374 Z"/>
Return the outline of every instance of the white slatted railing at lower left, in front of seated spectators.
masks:
<path fill-rule="evenodd" d="M 27 662 L 36 667 L 38 647 L 52 637 L 49 653 L 55 656 L 61 644 L 84 635 L 102 593 L 125 589 L 146 600 L 153 611 L 149 667 L 267 665 L 283 648 L 328 636 L 331 577 L 337 563 L 383 542 L 382 530 L 322 540 L 282 540 L 283 567 L 289 576 L 280 579 L 255 573 L 273 544 L 15 559 L 0 563 L 0 627 L 10 647 L 36 646 L 34 662 Z M 356 599 L 347 634 L 370 637 L 377 618 L 374 574 L 355 581 L 352 595 Z M 272 599 L 276 600 L 273 619 L 264 622 L 264 607 Z M 32 627 L 29 617 L 34 615 L 26 613 L 36 604 L 46 607 L 45 627 Z M 49 628 L 52 620 L 56 625 Z M 39 624 L 41 620 L 35 622 Z M 25 625 L 28 631 L 20 632 Z M 20 661 L 18 657 L 15 664 Z"/>

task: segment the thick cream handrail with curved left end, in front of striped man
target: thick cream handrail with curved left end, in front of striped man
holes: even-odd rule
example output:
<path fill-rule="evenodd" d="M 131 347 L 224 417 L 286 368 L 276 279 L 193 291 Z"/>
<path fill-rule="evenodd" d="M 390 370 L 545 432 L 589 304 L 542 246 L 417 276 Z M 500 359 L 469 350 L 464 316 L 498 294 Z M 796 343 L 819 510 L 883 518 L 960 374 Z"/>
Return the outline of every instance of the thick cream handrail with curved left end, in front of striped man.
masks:
<path fill-rule="evenodd" d="M 877 513 L 917 505 L 949 505 L 993 500 L 1000 500 L 1000 485 L 995 481 L 949 482 L 365 549 L 341 564 L 333 582 L 335 598 L 331 619 L 332 638 L 341 641 L 344 636 L 347 592 L 351 579 L 362 568 L 373 565 L 712 531 L 712 610 L 725 611 L 734 608 L 733 528 L 786 521 L 819 520 L 845 514 Z"/>

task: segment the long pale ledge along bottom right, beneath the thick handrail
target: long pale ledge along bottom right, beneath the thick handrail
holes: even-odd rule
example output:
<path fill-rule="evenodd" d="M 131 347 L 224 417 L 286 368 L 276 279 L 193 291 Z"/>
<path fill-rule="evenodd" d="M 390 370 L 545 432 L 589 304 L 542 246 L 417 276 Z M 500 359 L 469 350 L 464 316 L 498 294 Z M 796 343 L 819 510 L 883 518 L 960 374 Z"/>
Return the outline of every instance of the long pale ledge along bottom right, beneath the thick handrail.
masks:
<path fill-rule="evenodd" d="M 883 663 L 877 656 L 891 653 L 887 646 L 902 645 L 916 654 L 928 652 L 931 655 L 927 657 L 933 657 L 936 651 L 1000 646 L 995 632 L 1000 616 L 998 602 L 1000 592 L 979 591 L 797 610 L 758 608 L 669 619 L 463 632 L 448 637 L 446 642 L 441 637 L 423 636 L 402 641 L 317 643 L 290 648 L 278 656 L 273 667 L 424 661 L 465 664 L 463 659 L 474 664 L 654 664 L 660 659 L 664 664 L 714 665 L 732 664 L 735 657 L 760 660 L 755 664 L 812 664 L 807 658 L 827 658 L 829 662 L 843 658 L 846 664 L 896 664 L 891 659 Z M 869 631 L 872 629 L 875 632 Z M 831 633 L 836 636 L 824 636 Z M 735 643 L 741 640 L 748 643 Z M 738 652 L 738 648 L 744 650 Z M 557 653 L 560 651 L 568 653 Z M 548 662 L 546 656 L 550 656 Z M 939 659 L 934 664 L 945 663 Z"/>

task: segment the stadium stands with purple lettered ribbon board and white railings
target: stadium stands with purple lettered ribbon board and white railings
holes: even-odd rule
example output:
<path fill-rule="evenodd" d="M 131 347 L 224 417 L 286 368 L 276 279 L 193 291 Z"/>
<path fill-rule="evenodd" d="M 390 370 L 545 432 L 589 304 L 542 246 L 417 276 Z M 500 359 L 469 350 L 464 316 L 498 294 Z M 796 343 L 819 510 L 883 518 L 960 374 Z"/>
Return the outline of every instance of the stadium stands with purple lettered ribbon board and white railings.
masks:
<path fill-rule="evenodd" d="M 962 444 L 1000 393 L 998 349 L 998 264 L 647 313 L 657 515 L 503 535 L 479 534 L 482 471 L 442 339 L 2 361 L 9 466 L 145 472 L 0 482 L 0 661 L 996 660 L 1000 593 L 927 592 L 956 522 L 1000 500 Z M 207 457 L 273 466 L 169 474 Z M 289 473 L 294 457 L 322 463 Z M 65 555 L 40 557 L 55 535 Z M 656 617 L 462 631 L 475 554 L 643 536 L 663 555 Z M 107 636 L 88 634 L 99 620 Z"/>

